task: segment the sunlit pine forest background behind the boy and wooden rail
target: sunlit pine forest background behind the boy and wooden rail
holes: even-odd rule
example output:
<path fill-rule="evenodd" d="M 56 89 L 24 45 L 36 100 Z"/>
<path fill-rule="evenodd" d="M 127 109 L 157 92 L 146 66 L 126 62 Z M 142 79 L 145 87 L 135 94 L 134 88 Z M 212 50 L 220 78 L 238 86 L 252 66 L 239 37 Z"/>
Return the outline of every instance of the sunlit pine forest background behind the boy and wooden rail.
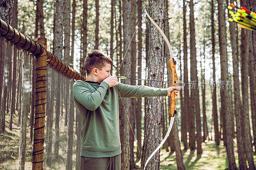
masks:
<path fill-rule="evenodd" d="M 98 49 L 113 60 L 112 75 L 144 79 L 122 83 L 167 88 L 170 83 L 145 80 L 171 81 L 166 63 L 173 57 L 182 87 L 177 115 L 147 168 L 255 169 L 256 34 L 228 22 L 230 3 L 256 12 L 253 0 L 3 0 L 0 18 L 30 39 L 46 38 L 47 50 L 83 76 L 86 54 Z M 36 58 L 0 41 L 0 169 L 31 169 Z M 49 65 L 46 80 L 44 169 L 80 169 L 83 125 L 74 80 Z M 143 168 L 169 127 L 170 99 L 119 104 L 122 150 L 129 151 L 122 153 L 122 169 Z M 161 124 L 147 126 L 152 122 Z"/>

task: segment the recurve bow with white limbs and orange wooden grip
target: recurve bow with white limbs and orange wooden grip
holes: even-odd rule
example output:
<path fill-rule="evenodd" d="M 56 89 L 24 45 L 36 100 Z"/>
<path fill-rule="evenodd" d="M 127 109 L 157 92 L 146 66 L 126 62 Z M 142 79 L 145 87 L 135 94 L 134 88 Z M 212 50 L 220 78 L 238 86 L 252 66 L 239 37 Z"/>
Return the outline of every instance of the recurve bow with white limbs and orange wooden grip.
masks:
<path fill-rule="evenodd" d="M 148 15 L 146 8 L 144 8 L 145 13 L 147 15 L 147 17 L 149 18 L 149 20 L 152 22 L 152 24 L 154 24 L 156 26 L 156 28 L 158 29 L 158 31 L 161 33 L 161 35 L 164 38 L 164 41 L 166 42 L 167 46 L 168 46 L 168 50 L 170 52 L 170 56 L 171 59 L 168 62 L 168 66 L 171 69 L 171 73 L 172 73 L 172 86 L 175 86 L 177 84 L 179 84 L 179 78 L 177 76 L 176 73 L 176 62 L 173 59 L 173 52 L 172 52 L 172 47 L 170 45 L 170 42 L 168 41 L 168 38 L 165 36 L 164 32 L 162 31 L 162 29 L 156 24 L 156 22 L 154 22 L 154 20 Z M 147 167 L 147 164 L 149 162 L 150 159 L 152 159 L 152 157 L 156 154 L 156 152 L 161 148 L 161 146 L 163 146 L 164 142 L 166 141 L 166 139 L 168 138 L 171 130 L 172 130 L 172 126 L 173 126 L 173 122 L 174 122 L 174 118 L 175 118 L 175 114 L 177 113 L 176 111 L 176 101 L 177 101 L 177 95 L 175 94 L 174 90 L 171 92 L 171 104 L 170 104 L 170 108 L 169 108 L 169 115 L 171 117 L 170 120 L 170 125 L 168 128 L 168 131 L 166 132 L 166 135 L 164 136 L 163 141 L 161 141 L 160 145 L 157 146 L 156 150 L 154 150 L 153 153 L 151 153 L 151 155 L 148 157 L 144 169 Z"/>

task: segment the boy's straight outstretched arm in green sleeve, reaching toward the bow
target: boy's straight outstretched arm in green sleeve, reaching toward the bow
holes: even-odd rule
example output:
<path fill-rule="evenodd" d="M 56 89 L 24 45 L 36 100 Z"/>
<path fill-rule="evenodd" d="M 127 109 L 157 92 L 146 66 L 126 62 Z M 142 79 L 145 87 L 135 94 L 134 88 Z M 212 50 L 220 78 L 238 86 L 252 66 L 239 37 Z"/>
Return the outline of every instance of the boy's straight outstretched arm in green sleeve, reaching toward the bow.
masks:
<path fill-rule="evenodd" d="M 136 97 L 159 97 L 167 96 L 167 89 L 148 87 L 144 85 L 125 85 L 119 83 L 116 85 L 119 91 L 119 97 L 136 98 Z"/>

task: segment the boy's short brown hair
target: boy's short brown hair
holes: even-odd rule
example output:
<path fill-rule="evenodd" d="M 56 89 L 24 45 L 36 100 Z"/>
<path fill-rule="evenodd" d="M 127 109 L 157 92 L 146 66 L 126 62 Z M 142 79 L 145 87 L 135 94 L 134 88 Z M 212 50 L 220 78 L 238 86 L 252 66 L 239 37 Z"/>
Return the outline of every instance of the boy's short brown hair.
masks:
<path fill-rule="evenodd" d="M 92 52 L 87 53 L 87 56 L 84 60 L 84 66 L 86 68 L 87 75 L 92 72 L 92 69 L 97 67 L 102 69 L 106 63 L 113 64 L 110 57 L 104 55 L 104 53 L 99 50 L 93 50 Z"/>

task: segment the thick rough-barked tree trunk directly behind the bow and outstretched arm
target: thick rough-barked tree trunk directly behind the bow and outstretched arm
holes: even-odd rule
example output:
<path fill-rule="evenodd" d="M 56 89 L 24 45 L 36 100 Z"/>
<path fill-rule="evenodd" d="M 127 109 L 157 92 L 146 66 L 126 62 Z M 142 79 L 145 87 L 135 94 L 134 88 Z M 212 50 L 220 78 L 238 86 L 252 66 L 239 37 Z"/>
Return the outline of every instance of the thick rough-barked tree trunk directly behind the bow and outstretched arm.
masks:
<path fill-rule="evenodd" d="M 163 30 L 164 28 L 164 0 L 149 1 L 148 11 L 150 17 Z M 148 79 L 163 80 L 164 66 L 164 39 L 157 28 L 150 22 L 148 39 Z M 157 42 L 157 43 L 156 43 Z M 149 81 L 150 87 L 163 87 L 163 83 Z M 145 162 L 149 155 L 154 152 L 161 142 L 162 134 L 162 117 L 163 117 L 163 97 L 147 97 L 145 110 L 145 132 L 143 144 L 143 157 L 141 159 L 141 167 L 145 166 Z M 152 127 L 154 127 L 152 129 Z M 147 169 L 159 169 L 159 153 L 148 162 Z"/>

